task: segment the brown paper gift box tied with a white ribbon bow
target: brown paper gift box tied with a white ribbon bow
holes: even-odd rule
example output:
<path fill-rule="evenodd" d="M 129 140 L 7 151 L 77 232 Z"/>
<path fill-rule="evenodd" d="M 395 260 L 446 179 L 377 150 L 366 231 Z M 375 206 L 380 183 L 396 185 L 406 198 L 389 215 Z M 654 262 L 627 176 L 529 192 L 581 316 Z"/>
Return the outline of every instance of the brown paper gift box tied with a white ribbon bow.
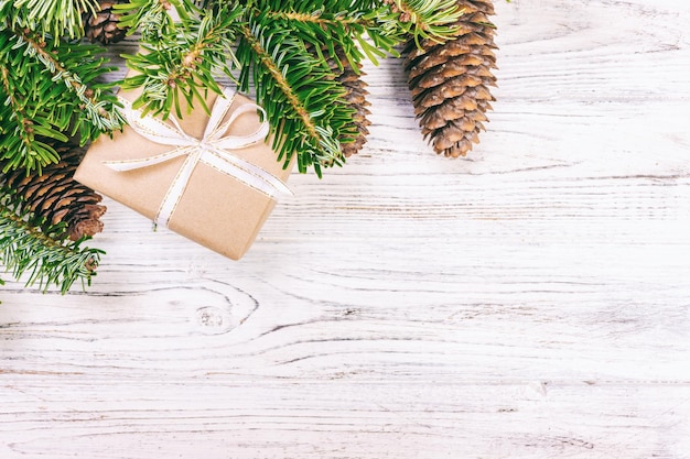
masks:
<path fill-rule="evenodd" d="M 247 97 L 209 91 L 211 116 L 198 105 L 166 121 L 131 107 L 138 91 L 121 91 L 128 125 L 89 147 L 75 179 L 233 260 L 257 237 L 280 194 L 283 168 L 266 136 L 262 109 Z"/>

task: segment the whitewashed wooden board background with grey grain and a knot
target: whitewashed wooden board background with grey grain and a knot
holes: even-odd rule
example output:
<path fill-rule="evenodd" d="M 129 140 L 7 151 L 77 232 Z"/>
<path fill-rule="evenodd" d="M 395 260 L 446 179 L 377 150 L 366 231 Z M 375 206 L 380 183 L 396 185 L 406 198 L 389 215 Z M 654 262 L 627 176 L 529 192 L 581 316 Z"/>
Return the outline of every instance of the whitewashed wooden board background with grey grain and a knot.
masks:
<path fill-rule="evenodd" d="M 0 288 L 0 458 L 690 458 L 690 3 L 496 9 L 467 160 L 387 61 L 240 262 L 108 200 L 87 293 Z"/>

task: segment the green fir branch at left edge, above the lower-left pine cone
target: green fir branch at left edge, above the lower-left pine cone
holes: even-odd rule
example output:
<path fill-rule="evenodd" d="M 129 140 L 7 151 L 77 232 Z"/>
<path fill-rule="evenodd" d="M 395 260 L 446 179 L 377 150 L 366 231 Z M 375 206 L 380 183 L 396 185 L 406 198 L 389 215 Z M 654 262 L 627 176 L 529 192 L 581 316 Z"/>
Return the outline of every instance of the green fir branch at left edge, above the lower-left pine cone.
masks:
<path fill-rule="evenodd" d="M 119 129 L 122 118 L 111 85 L 96 79 L 110 70 L 93 45 L 45 41 L 24 29 L 0 28 L 0 159 L 4 171 L 41 170 L 57 160 L 36 136 L 83 142 Z M 78 72 L 78 74 L 77 74 Z M 65 90 L 66 89 L 66 90 Z"/>

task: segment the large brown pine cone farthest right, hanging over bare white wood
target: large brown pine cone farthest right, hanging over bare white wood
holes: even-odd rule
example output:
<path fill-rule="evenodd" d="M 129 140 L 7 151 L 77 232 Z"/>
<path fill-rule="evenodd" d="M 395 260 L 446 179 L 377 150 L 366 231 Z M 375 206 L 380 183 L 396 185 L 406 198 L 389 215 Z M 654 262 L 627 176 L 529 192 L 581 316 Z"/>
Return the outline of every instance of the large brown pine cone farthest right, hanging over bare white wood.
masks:
<path fill-rule="evenodd" d="M 405 48 L 405 68 L 412 91 L 414 114 L 424 139 L 431 138 L 436 153 L 465 156 L 479 142 L 489 101 L 496 86 L 494 14 L 490 0 L 459 0 L 464 11 L 456 37 L 445 43 L 424 40 L 421 48 L 410 40 Z"/>

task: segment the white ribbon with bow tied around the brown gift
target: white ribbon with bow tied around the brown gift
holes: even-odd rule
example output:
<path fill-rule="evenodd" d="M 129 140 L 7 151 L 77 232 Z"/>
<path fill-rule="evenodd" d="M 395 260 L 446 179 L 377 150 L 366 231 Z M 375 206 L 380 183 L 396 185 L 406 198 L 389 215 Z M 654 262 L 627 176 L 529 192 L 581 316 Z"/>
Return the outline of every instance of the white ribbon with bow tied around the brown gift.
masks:
<path fill-rule="evenodd" d="M 202 139 L 195 139 L 186 134 L 174 117 L 170 117 L 173 125 L 151 116 L 144 117 L 141 110 L 132 108 L 130 101 L 120 98 L 125 106 L 123 114 L 134 132 L 151 142 L 175 146 L 175 149 L 138 160 L 106 161 L 104 162 L 105 165 L 115 171 L 125 172 L 152 166 L 179 156 L 186 156 L 159 207 L 158 215 L 153 220 L 155 225 L 168 226 L 182 195 L 184 195 L 192 172 L 194 172 L 200 162 L 236 178 L 272 199 L 279 194 L 292 195 L 290 188 L 280 178 L 229 152 L 229 150 L 239 150 L 262 142 L 269 132 L 266 111 L 255 103 L 239 106 L 230 114 L 230 118 L 222 123 L 233 103 L 234 97 L 235 92 L 229 89 L 225 89 L 223 96 L 218 96 Z M 225 132 L 237 118 L 244 113 L 256 112 L 257 110 L 263 114 L 263 121 L 255 132 L 247 135 L 225 135 Z"/>

